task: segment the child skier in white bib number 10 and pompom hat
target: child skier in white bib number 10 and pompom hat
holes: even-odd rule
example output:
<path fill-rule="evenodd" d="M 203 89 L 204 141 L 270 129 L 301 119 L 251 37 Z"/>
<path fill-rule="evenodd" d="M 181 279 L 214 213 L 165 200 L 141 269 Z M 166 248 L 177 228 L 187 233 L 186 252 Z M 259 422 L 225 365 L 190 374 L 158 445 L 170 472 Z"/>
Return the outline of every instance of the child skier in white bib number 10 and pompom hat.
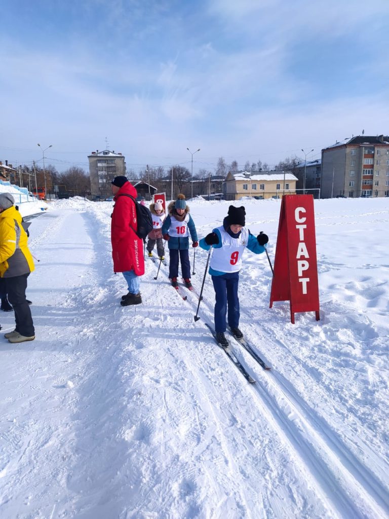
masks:
<path fill-rule="evenodd" d="M 197 232 L 195 222 L 189 214 L 189 206 L 185 196 L 180 194 L 175 202 L 168 206 L 168 216 L 162 226 L 163 239 L 168 240 L 170 265 L 169 278 L 174 287 L 178 286 L 178 256 L 181 261 L 181 272 L 185 286 L 191 288 L 190 263 L 189 263 L 189 234 L 192 239 L 192 247 L 197 247 Z"/>

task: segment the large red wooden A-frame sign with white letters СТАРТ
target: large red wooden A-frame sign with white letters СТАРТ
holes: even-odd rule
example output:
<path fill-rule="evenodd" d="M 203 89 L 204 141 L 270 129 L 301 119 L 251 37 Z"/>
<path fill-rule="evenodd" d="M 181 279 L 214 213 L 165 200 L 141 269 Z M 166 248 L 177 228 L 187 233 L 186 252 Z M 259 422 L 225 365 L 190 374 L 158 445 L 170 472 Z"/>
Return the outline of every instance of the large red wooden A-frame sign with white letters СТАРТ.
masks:
<path fill-rule="evenodd" d="M 315 216 L 312 195 L 282 197 L 270 308 L 274 301 L 290 302 L 295 312 L 311 312 L 319 320 Z"/>

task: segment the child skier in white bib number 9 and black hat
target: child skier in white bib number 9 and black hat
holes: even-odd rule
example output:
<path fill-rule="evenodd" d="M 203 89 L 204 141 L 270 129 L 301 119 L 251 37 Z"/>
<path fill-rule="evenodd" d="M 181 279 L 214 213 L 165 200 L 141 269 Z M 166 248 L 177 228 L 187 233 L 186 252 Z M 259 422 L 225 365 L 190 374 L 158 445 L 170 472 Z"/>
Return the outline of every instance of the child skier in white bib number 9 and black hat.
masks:
<path fill-rule="evenodd" d="M 228 325 L 232 334 L 241 339 L 243 333 L 239 330 L 239 271 L 242 267 L 242 254 L 247 247 L 255 254 L 265 252 L 269 238 L 266 234 L 253 236 L 245 227 L 244 207 L 230 206 L 228 216 L 223 225 L 213 229 L 212 233 L 200 240 L 200 247 L 214 251 L 211 257 L 209 273 L 216 293 L 215 303 L 215 332 L 217 342 L 224 348 L 228 347 L 226 331 L 226 314 L 228 306 Z"/>

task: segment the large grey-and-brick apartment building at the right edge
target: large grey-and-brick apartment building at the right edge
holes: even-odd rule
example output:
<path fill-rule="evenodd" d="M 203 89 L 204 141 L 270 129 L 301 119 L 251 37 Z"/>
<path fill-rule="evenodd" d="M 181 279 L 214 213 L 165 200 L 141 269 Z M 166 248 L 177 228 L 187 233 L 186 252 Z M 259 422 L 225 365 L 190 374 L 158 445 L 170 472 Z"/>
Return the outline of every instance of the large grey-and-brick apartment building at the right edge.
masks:
<path fill-rule="evenodd" d="M 389 136 L 358 135 L 322 149 L 322 198 L 389 196 Z"/>

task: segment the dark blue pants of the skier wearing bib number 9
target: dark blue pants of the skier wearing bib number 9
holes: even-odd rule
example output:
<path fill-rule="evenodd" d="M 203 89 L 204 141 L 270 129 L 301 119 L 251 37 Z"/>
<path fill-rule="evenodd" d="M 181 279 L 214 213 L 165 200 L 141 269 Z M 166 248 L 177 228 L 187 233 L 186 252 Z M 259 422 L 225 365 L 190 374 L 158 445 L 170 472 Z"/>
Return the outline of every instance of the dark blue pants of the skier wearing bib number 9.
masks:
<path fill-rule="evenodd" d="M 239 326 L 240 309 L 238 298 L 239 272 L 226 272 L 221 276 L 212 276 L 216 293 L 215 331 L 226 331 L 226 314 L 228 307 L 228 324 L 231 328 Z"/>

